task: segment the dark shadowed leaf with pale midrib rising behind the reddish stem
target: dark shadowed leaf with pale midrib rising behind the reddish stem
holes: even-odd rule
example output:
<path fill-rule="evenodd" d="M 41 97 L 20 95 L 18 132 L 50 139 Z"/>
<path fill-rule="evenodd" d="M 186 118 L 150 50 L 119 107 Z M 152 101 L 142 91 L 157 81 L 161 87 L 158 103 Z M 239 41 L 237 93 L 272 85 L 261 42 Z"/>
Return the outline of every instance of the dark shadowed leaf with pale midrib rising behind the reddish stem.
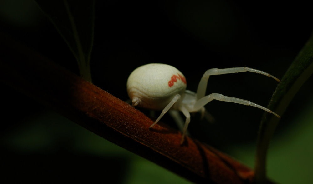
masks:
<path fill-rule="evenodd" d="M 94 40 L 95 1 L 35 1 L 73 52 L 81 77 L 91 82 L 90 55 Z"/>

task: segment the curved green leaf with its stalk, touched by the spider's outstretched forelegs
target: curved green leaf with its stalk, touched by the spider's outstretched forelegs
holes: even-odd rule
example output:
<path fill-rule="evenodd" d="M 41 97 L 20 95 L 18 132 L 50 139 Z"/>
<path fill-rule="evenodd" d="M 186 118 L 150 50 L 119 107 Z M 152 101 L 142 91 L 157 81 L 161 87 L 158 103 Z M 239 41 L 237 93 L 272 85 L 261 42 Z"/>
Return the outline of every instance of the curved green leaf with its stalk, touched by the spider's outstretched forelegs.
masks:
<path fill-rule="evenodd" d="M 289 103 L 312 73 L 313 34 L 286 71 L 269 102 L 268 108 L 284 118 L 283 114 Z M 279 118 L 268 113 L 264 114 L 262 118 L 255 159 L 255 179 L 257 183 L 265 181 L 266 152 L 279 120 Z"/>

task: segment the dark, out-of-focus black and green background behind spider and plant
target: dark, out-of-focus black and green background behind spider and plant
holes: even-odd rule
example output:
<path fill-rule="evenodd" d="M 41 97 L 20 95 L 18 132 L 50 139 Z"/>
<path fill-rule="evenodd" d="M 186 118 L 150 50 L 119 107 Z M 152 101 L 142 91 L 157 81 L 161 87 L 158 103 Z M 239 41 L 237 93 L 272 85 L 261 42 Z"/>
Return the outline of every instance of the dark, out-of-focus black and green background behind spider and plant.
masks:
<path fill-rule="evenodd" d="M 128 75 L 151 62 L 177 67 L 192 91 L 203 73 L 213 67 L 247 66 L 282 78 L 312 30 L 310 6 L 301 2 L 97 1 L 93 82 L 127 100 Z M 35 2 L 2 0 L 0 32 L 78 73 L 69 48 Z M 268 176 L 275 182 L 313 183 L 312 84 L 310 77 L 282 117 L 270 144 Z M 266 106 L 276 85 L 275 80 L 252 73 L 229 74 L 210 77 L 207 93 Z M 2 86 L 3 180 L 189 183 Z M 206 108 L 216 122 L 201 121 L 195 114 L 189 126 L 192 137 L 253 168 L 263 112 L 214 101 Z M 171 117 L 162 119 L 175 126 Z"/>

